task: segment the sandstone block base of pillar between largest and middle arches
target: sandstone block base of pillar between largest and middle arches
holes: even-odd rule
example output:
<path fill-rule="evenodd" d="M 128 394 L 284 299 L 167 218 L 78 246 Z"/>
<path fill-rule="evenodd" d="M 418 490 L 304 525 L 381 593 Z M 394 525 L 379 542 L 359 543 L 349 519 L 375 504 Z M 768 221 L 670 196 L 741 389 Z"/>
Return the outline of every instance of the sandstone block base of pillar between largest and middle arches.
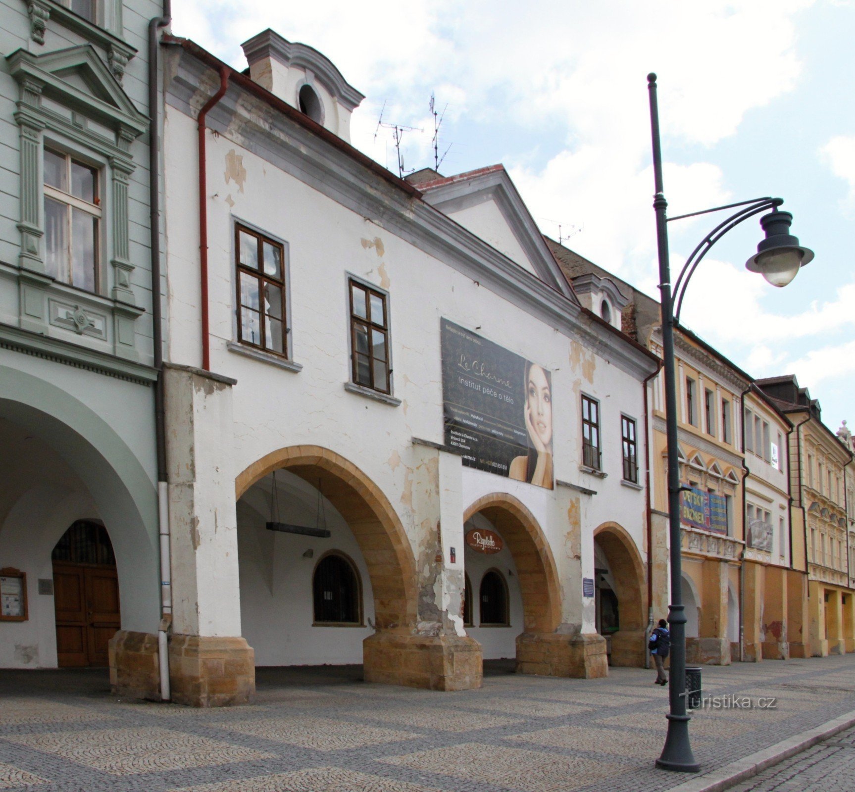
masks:
<path fill-rule="evenodd" d="M 363 641 L 363 677 L 429 690 L 480 688 L 481 644 L 460 635 L 374 633 Z"/>

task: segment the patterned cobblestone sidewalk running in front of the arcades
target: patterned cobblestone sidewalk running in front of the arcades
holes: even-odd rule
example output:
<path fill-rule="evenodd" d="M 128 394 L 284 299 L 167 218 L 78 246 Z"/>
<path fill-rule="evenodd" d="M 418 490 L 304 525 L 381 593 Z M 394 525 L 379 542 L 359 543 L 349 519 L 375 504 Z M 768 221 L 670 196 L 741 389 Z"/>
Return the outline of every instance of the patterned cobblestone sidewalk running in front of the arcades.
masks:
<path fill-rule="evenodd" d="M 653 766 L 668 710 L 653 671 L 490 670 L 479 690 L 439 693 L 363 683 L 352 666 L 259 669 L 255 704 L 216 710 L 117 699 L 102 670 L 0 671 L 0 790 L 657 792 L 687 780 Z M 706 694 L 777 708 L 697 711 L 695 758 L 715 770 L 855 710 L 853 671 L 855 654 L 706 666 Z M 852 767 L 844 739 L 811 750 Z"/>

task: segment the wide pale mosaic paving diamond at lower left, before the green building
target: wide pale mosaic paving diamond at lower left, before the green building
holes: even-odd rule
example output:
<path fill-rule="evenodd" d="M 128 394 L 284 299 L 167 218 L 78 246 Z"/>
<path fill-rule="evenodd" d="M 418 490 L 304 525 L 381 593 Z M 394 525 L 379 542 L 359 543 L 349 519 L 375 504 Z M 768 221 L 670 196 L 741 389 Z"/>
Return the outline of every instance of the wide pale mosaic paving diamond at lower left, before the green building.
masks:
<path fill-rule="evenodd" d="M 274 758 L 254 748 L 147 727 L 14 735 L 5 739 L 115 776 Z"/>

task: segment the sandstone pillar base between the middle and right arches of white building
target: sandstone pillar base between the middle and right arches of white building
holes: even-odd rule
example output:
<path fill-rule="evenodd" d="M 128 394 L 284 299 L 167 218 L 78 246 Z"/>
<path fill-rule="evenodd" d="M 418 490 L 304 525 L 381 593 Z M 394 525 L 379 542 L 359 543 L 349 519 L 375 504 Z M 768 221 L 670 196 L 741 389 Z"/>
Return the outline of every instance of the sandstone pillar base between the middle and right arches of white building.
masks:
<path fill-rule="evenodd" d="M 605 639 L 596 633 L 522 633 L 516 636 L 516 673 L 583 679 L 608 677 Z"/>

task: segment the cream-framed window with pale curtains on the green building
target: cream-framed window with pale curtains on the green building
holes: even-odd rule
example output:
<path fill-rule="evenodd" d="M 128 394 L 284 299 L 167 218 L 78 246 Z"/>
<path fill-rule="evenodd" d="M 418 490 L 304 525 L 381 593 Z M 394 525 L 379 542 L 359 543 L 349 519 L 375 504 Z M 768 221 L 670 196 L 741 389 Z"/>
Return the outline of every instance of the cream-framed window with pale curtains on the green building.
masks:
<path fill-rule="evenodd" d="M 44 268 L 57 281 L 98 291 L 101 196 L 97 168 L 44 149 Z"/>

